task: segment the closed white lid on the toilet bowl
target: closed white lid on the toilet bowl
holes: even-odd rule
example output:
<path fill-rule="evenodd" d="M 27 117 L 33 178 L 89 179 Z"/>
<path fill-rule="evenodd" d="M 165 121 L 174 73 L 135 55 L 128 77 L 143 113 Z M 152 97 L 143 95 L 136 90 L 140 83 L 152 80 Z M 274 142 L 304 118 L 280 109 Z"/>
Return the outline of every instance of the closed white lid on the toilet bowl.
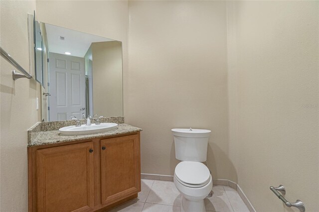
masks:
<path fill-rule="evenodd" d="M 200 162 L 193 161 L 182 161 L 177 164 L 175 176 L 179 181 L 193 185 L 207 184 L 210 180 L 208 168 Z"/>

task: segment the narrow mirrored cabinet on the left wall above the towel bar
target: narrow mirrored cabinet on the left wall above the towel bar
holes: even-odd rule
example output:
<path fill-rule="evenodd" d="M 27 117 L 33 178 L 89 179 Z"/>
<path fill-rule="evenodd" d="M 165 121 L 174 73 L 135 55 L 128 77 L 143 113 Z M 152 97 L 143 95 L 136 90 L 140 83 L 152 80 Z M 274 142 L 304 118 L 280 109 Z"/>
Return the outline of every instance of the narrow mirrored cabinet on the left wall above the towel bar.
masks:
<path fill-rule="evenodd" d="M 43 55 L 42 55 L 42 34 L 39 22 L 35 19 L 35 12 L 33 13 L 33 42 L 34 42 L 34 69 L 35 80 L 43 85 Z"/>

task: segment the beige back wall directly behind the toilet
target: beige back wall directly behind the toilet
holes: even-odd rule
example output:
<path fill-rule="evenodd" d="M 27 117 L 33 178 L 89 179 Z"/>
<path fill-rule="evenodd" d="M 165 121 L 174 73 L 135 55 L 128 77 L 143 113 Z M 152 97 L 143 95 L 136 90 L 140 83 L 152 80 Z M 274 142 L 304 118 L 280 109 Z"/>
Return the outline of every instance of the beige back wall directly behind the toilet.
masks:
<path fill-rule="evenodd" d="M 172 128 L 211 129 L 208 166 L 230 177 L 226 2 L 129 1 L 125 121 L 143 128 L 142 173 L 173 175 Z"/>

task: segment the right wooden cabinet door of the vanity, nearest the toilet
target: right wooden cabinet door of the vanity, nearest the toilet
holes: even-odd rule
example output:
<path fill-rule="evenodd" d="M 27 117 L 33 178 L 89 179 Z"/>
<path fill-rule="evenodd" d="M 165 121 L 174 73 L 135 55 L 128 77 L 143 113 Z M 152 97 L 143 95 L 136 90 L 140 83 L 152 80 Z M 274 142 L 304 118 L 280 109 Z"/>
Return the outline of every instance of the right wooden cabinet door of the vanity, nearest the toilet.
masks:
<path fill-rule="evenodd" d="M 102 205 L 141 191 L 139 135 L 101 140 Z"/>

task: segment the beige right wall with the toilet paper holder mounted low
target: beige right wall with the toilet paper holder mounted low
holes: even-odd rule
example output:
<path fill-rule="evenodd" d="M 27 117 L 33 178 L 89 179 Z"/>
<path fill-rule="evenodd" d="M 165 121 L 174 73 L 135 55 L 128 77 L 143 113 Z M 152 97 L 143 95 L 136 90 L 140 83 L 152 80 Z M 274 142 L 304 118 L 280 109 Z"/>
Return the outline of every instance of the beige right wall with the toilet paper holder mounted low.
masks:
<path fill-rule="evenodd" d="M 318 6 L 228 2 L 229 157 L 257 211 L 292 211 L 269 190 L 280 184 L 319 209 Z"/>

